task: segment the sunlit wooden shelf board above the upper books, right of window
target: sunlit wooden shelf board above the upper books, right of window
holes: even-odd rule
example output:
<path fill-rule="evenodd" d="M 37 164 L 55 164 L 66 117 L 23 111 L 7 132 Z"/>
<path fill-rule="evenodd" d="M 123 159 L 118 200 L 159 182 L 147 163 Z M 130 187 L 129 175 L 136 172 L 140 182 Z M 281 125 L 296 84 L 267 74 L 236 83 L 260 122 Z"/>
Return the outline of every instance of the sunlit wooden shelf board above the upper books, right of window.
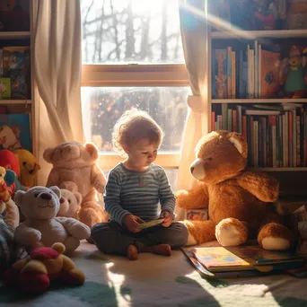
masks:
<path fill-rule="evenodd" d="M 210 34 L 211 39 L 307 38 L 307 30 L 241 31 L 233 28 L 230 31 L 214 31 Z"/>

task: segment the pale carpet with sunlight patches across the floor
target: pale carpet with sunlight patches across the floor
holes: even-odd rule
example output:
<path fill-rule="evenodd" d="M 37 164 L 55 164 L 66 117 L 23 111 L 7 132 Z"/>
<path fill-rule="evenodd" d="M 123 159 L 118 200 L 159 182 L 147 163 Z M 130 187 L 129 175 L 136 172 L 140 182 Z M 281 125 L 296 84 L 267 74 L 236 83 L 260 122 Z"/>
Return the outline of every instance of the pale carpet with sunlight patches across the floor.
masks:
<path fill-rule="evenodd" d="M 288 275 L 207 281 L 180 250 L 137 261 L 106 256 L 83 242 L 72 259 L 83 269 L 80 287 L 51 285 L 38 296 L 0 287 L 0 306 L 307 306 L 307 279 Z"/>

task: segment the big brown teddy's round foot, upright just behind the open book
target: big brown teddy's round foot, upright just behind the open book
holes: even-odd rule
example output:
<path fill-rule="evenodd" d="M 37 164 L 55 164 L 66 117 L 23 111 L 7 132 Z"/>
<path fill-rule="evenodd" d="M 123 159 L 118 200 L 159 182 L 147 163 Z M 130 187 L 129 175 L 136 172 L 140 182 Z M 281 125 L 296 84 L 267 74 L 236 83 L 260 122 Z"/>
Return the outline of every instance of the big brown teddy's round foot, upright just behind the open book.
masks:
<path fill-rule="evenodd" d="M 215 237 L 222 246 L 238 246 L 247 241 L 245 224 L 234 218 L 227 218 L 215 227 Z"/>

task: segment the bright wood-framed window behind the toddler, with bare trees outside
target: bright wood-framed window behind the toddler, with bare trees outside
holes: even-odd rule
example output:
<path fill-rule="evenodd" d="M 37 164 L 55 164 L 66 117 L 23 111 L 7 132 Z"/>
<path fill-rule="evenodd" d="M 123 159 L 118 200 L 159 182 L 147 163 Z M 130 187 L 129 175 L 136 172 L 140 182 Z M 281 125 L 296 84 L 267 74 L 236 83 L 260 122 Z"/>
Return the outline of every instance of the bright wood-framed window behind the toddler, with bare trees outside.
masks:
<path fill-rule="evenodd" d="M 120 161 L 111 131 L 133 106 L 162 126 L 157 163 L 176 169 L 189 92 L 178 0 L 82 0 L 81 10 L 83 126 L 101 151 L 101 169 Z"/>

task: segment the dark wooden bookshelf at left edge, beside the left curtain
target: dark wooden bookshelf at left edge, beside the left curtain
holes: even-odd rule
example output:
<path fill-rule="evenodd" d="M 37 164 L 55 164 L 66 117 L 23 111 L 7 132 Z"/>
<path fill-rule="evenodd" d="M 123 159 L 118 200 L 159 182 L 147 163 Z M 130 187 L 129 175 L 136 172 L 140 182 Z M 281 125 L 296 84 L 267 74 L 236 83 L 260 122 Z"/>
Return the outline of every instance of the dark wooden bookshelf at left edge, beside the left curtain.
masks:
<path fill-rule="evenodd" d="M 10 24 L 5 24 L 7 19 L 4 22 L 4 30 L 0 31 L 0 48 L 5 47 L 29 47 L 30 48 L 30 78 L 27 80 L 28 93 L 25 97 L 12 96 L 11 98 L 0 99 L 0 106 L 6 107 L 8 114 L 14 113 L 29 113 L 31 120 L 31 151 L 36 155 L 36 142 L 35 142 L 35 110 L 34 110 L 34 67 L 33 67 L 33 39 L 31 39 L 31 20 L 32 20 L 32 0 L 23 0 L 21 3 L 16 5 L 21 5 L 23 10 L 22 22 L 16 23 L 16 18 L 11 19 Z M 21 7 L 18 7 L 21 10 Z M 14 9 L 14 8 L 13 8 Z M 19 11 L 20 12 L 20 11 Z M 9 12 L 10 13 L 10 12 Z M 29 22 L 27 21 L 29 19 Z M 17 24 L 17 25 L 16 25 Z M 8 28 L 5 29 L 5 26 Z M 26 28 L 23 28 L 23 27 Z M 10 27 L 12 29 L 10 29 Z M 13 30 L 14 28 L 14 30 Z M 18 29 L 17 29 L 18 28 Z M 15 31 L 16 30 L 16 31 Z M 1 55 L 1 53 L 0 53 Z M 4 55 L 3 55 L 4 56 Z M 4 57 L 2 57 L 4 59 Z M 7 75 L 0 75 L 0 77 L 7 77 Z M 11 88 L 12 92 L 12 88 Z"/>

